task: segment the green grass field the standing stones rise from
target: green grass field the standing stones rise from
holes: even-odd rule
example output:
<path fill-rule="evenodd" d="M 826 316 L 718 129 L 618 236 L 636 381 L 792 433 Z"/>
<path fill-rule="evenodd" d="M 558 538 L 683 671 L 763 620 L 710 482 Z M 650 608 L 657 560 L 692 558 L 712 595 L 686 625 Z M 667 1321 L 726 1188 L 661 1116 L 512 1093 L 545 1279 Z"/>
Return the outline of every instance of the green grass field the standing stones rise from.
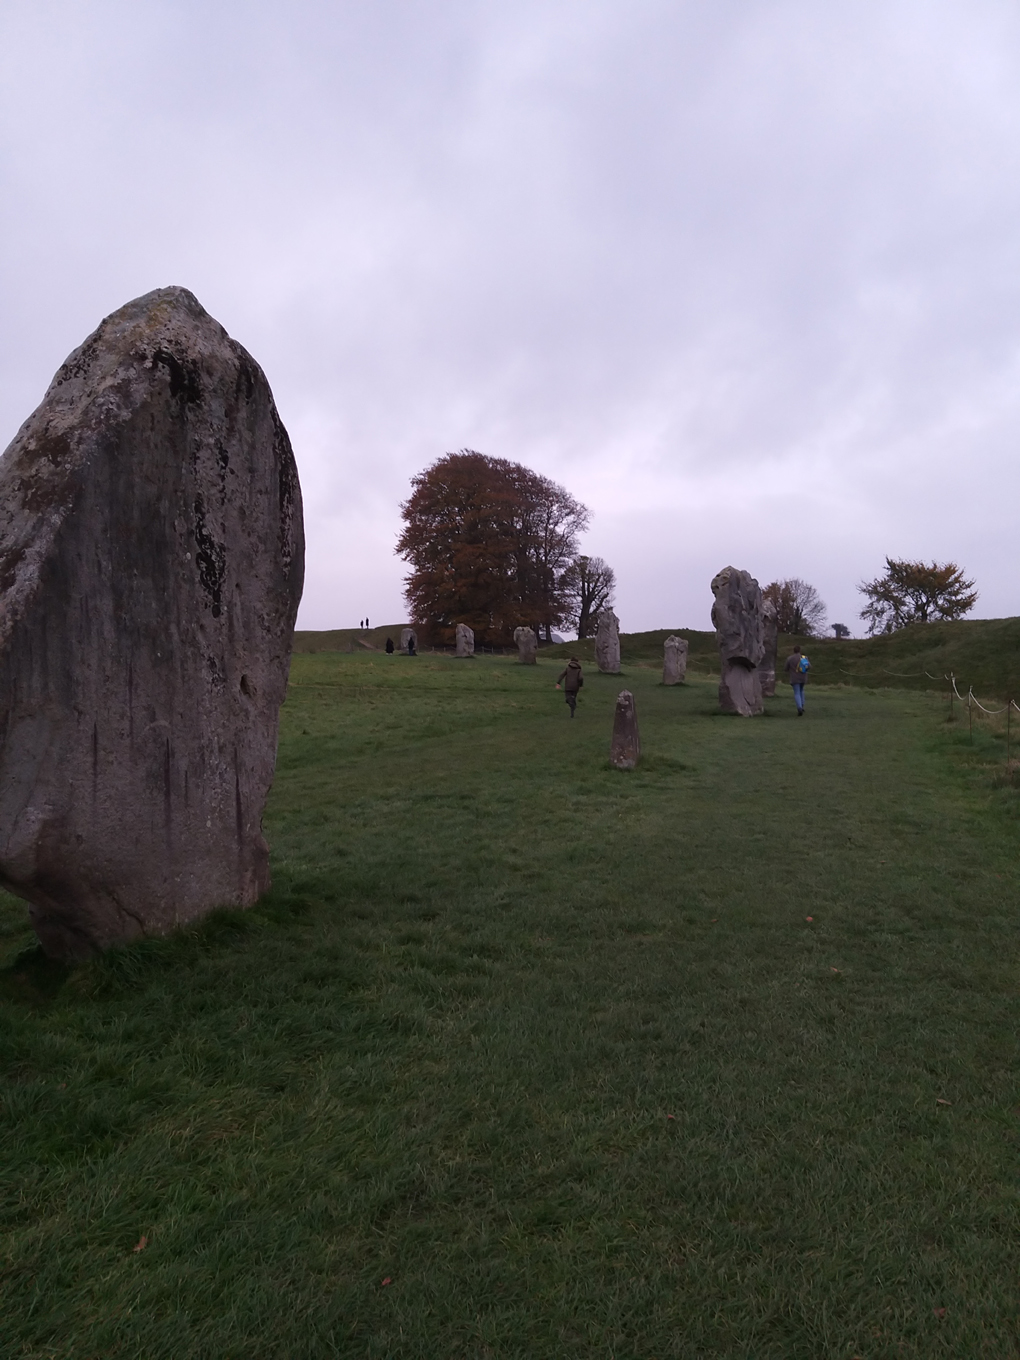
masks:
<path fill-rule="evenodd" d="M 257 908 L 0 900 L 0 1355 L 1020 1356 L 1001 730 L 560 664 L 296 656 Z"/>

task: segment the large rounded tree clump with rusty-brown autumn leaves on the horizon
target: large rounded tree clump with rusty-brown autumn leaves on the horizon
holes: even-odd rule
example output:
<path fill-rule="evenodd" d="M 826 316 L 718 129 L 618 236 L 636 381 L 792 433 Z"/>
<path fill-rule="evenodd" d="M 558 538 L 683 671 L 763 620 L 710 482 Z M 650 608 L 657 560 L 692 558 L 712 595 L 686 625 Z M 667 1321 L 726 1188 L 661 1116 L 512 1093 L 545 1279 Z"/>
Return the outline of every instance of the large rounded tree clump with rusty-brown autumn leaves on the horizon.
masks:
<path fill-rule="evenodd" d="M 473 449 L 447 453 L 411 479 L 397 554 L 411 566 L 404 597 L 432 643 L 458 623 L 505 646 L 514 628 L 548 641 L 570 612 L 563 583 L 589 511 L 520 462 Z"/>

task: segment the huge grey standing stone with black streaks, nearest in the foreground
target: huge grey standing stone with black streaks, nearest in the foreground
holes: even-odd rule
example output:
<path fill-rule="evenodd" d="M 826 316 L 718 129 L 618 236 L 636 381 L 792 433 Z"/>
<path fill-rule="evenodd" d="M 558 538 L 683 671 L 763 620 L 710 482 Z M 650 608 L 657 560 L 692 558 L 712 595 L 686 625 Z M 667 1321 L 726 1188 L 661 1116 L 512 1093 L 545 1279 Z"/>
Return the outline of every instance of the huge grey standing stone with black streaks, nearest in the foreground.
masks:
<path fill-rule="evenodd" d="M 0 460 L 0 881 L 49 955 L 268 888 L 303 560 L 258 364 L 184 288 L 114 311 Z"/>

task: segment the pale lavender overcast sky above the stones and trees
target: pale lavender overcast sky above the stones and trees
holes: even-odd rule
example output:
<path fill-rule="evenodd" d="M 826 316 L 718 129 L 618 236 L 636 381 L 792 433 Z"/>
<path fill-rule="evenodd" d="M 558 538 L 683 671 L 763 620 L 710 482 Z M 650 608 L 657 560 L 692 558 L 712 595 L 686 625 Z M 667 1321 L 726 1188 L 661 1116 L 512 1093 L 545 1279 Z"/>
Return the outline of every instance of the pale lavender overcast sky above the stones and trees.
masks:
<path fill-rule="evenodd" d="M 593 510 L 626 631 L 885 554 L 1020 613 L 1020 7 L 4 0 L 0 446 L 182 284 L 294 441 L 299 626 L 404 617 L 460 447 Z"/>

